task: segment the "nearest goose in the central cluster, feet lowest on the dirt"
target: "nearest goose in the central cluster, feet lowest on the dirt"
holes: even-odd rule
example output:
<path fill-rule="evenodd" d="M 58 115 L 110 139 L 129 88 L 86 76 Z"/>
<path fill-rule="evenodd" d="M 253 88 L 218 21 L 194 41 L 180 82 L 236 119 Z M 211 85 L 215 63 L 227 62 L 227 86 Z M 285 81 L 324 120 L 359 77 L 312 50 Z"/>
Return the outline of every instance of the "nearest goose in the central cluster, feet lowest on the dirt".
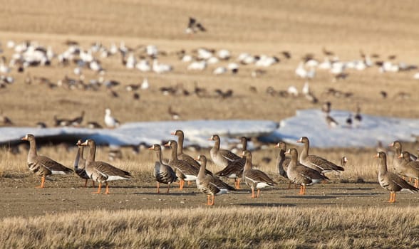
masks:
<path fill-rule="evenodd" d="M 200 155 L 197 158 L 200 161 L 200 171 L 197 175 L 197 188 L 204 194 L 207 194 L 207 205 L 214 205 L 215 195 L 226 194 L 228 191 L 234 191 L 235 189 L 232 186 L 224 183 L 224 181 L 219 180 L 215 176 L 205 174 L 207 167 L 207 157 Z M 212 200 L 209 201 L 210 196 Z"/>

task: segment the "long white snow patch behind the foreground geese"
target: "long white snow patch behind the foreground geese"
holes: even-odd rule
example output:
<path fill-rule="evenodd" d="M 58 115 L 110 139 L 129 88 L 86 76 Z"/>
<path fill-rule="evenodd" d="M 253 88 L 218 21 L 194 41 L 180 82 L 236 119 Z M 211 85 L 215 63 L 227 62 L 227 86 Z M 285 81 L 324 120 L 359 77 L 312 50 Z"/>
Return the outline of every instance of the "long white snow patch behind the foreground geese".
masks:
<path fill-rule="evenodd" d="M 395 117 L 362 115 L 359 127 L 348 127 L 348 111 L 332 110 L 330 115 L 339 125 L 328 127 L 321 110 L 298 110 L 296 116 L 278 123 L 269 120 L 192 120 L 167 122 L 131 122 L 116 129 L 87 129 L 76 127 L 54 127 L 40 129 L 36 127 L 2 127 L 0 144 L 16 144 L 27 133 L 36 137 L 67 137 L 95 139 L 98 144 L 110 146 L 128 146 L 141 143 L 161 144 L 170 139 L 176 129 L 185 132 L 185 146 L 197 144 L 212 147 L 208 141 L 212 134 L 219 134 L 222 147 L 229 143 L 239 143 L 239 137 L 260 137 L 267 142 L 279 139 L 296 144 L 302 136 L 309 137 L 311 147 L 375 147 L 378 141 L 389 144 L 395 139 L 414 141 L 412 134 L 419 135 L 419 120 Z M 68 139 L 67 139 L 68 141 Z M 252 143 L 250 147 L 252 148 Z"/>

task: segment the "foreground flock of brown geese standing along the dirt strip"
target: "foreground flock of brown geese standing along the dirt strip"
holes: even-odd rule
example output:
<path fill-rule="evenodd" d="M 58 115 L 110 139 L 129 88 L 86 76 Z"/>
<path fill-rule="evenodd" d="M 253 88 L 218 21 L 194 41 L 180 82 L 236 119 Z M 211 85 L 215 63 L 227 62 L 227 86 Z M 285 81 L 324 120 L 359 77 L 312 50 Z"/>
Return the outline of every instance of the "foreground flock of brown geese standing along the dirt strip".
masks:
<path fill-rule="evenodd" d="M 160 144 L 153 144 L 149 147 L 156 155 L 153 176 L 157 182 L 157 194 L 160 193 L 160 184 L 167 184 L 167 193 L 170 191 L 170 185 L 176 181 L 180 182 L 180 190 L 183 189 L 185 182 L 190 184 L 195 181 L 197 189 L 207 195 L 207 205 L 214 205 L 214 198 L 217 195 L 225 194 L 229 191 L 240 189 L 240 181 L 243 181 L 252 190 L 252 198 L 259 198 L 260 190 L 265 187 L 276 186 L 271 176 L 264 171 L 256 169 L 252 164 L 252 153 L 247 149 L 247 138 L 242 137 L 241 157 L 227 149 L 220 149 L 220 138 L 217 134 L 209 137 L 214 141 L 210 149 L 209 157 L 214 164 L 219 166 L 219 171 L 212 173 L 207 169 L 207 157 L 200 154 L 196 159 L 183 152 L 184 133 L 178 129 L 171 133 L 177 136 L 177 141 L 171 139 L 164 144 L 170 147 L 169 160 L 162 159 L 162 147 Z M 109 181 L 127 180 L 132 176 L 130 172 L 118 169 L 117 167 L 105 162 L 95 160 L 96 144 L 93 139 L 87 139 L 85 142 L 78 140 L 78 150 L 74 160 L 74 168 L 69 169 L 63 164 L 54 161 L 48 157 L 38 156 L 36 152 L 36 139 L 33 134 L 26 134 L 22 140 L 29 141 L 29 153 L 27 163 L 29 170 L 41 176 L 41 186 L 44 188 L 45 178 L 53 174 L 76 174 L 85 180 L 86 187 L 91 180 L 93 187 L 98 183 L 98 191 L 105 185 L 105 194 L 109 194 Z M 310 142 L 308 137 L 301 137 L 297 142 L 304 144 L 299 153 L 296 148 L 286 149 L 284 142 L 279 142 L 275 147 L 279 148 L 279 154 L 276 159 L 276 166 L 279 174 L 289 181 L 300 185 L 299 194 L 306 194 L 306 186 L 329 181 L 326 173 L 344 171 L 346 161 L 343 157 L 341 166 L 333 162 L 309 154 Z M 395 173 L 388 171 L 386 153 L 378 152 L 375 157 L 379 159 L 378 182 L 384 188 L 390 191 L 390 203 L 395 202 L 395 193 L 401 190 L 407 190 L 412 193 L 419 191 L 419 161 L 409 152 L 402 151 L 401 143 L 395 141 L 390 146 L 395 148 L 393 167 Z M 83 150 L 88 148 L 87 158 L 84 159 Z M 286 157 L 286 155 L 290 157 Z M 402 177 L 400 177 L 402 176 Z M 415 186 L 410 185 L 404 180 L 405 177 L 415 179 Z M 230 186 L 225 179 L 234 179 L 234 186 Z M 290 185 L 289 185 L 290 186 Z"/>

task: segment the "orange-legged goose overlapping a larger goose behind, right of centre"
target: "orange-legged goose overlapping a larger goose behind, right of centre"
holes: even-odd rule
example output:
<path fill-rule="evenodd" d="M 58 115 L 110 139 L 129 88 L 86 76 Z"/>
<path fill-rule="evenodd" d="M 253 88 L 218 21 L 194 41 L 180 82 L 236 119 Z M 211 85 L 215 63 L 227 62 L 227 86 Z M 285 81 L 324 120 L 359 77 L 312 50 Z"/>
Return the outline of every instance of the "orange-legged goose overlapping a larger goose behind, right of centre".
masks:
<path fill-rule="evenodd" d="M 286 169 L 286 174 L 292 182 L 300 184 L 299 194 L 306 194 L 306 186 L 329 180 L 329 178 L 322 175 L 319 171 L 300 164 L 298 161 L 299 154 L 295 148 L 288 149 L 285 153 L 291 154 L 291 161 L 289 162 L 288 169 Z"/>

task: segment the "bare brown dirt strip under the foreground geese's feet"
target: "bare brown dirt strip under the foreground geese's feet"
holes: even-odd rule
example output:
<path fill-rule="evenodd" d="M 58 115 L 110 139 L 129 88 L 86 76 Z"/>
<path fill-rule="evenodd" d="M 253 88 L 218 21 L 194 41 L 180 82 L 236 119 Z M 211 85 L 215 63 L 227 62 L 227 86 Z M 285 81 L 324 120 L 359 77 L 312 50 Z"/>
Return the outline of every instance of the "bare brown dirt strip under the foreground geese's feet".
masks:
<path fill-rule="evenodd" d="M 118 211 L 155 208 L 197 208 L 206 206 L 205 194 L 197 190 L 195 183 L 185 184 L 179 190 L 174 184 L 166 194 L 166 186 L 161 193 L 156 193 L 152 181 L 133 178 L 130 181 L 110 183 L 110 194 L 93 194 L 89 183 L 84 188 L 84 181 L 76 176 L 54 176 L 46 180 L 45 189 L 36 189 L 39 179 L 24 175 L 19 178 L 4 178 L 1 181 L 0 218 L 11 216 L 42 216 L 46 213 L 66 213 L 73 211 L 91 211 L 95 209 Z M 274 189 L 262 189 L 259 198 L 251 198 L 250 189 L 241 184 L 238 191 L 217 196 L 214 207 L 220 206 L 417 206 L 417 194 L 401 193 L 396 196 L 396 203 L 387 203 L 389 194 L 377 183 L 329 183 L 308 186 L 306 195 L 298 194 L 299 189 L 287 189 L 281 181 Z M 211 207 L 209 207 L 211 208 Z"/>

